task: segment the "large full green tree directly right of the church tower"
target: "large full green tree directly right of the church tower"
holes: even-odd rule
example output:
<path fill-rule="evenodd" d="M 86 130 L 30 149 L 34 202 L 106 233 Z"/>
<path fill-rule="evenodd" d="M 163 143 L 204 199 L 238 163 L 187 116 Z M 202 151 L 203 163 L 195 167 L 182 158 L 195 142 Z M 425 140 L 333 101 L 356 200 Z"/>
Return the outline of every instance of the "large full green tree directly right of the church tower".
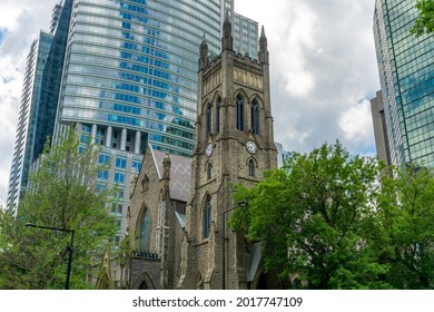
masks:
<path fill-rule="evenodd" d="M 377 177 L 375 159 L 352 157 L 339 143 L 295 153 L 256 186 L 236 186 L 235 201 L 248 206 L 230 224 L 263 241 L 266 270 L 298 276 L 293 287 L 385 289 L 388 266 L 369 240 Z"/>

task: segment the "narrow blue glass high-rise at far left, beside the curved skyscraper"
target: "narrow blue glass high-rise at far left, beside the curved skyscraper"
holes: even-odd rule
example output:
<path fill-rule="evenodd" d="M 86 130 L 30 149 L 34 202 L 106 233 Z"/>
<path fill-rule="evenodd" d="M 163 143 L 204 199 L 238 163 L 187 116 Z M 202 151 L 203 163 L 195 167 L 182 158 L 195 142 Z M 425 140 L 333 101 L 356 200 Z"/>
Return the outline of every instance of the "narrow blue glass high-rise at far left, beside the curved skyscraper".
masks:
<path fill-rule="evenodd" d="M 31 163 L 52 136 L 71 7 L 72 0 L 55 7 L 50 32 L 40 31 L 27 58 L 7 199 L 12 209 L 26 192 Z"/>

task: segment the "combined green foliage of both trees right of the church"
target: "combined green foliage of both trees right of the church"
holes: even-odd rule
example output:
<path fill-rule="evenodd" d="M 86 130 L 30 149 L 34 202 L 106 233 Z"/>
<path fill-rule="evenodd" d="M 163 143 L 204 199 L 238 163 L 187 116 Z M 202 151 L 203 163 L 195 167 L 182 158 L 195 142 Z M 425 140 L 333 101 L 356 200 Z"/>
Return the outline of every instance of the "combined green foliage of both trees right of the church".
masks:
<path fill-rule="evenodd" d="M 230 225 L 293 287 L 434 289 L 433 168 L 387 168 L 336 143 L 237 185 L 235 201 L 248 206 Z"/>

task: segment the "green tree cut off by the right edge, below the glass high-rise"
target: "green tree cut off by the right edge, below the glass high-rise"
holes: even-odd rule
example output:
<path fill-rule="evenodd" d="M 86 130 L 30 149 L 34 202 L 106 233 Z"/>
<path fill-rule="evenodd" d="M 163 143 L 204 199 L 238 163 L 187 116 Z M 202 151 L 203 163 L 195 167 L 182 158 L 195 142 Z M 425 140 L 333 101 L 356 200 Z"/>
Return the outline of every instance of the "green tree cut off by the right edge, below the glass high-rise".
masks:
<path fill-rule="evenodd" d="M 391 168 L 378 204 L 383 255 L 396 289 L 434 289 L 434 170 Z"/>

